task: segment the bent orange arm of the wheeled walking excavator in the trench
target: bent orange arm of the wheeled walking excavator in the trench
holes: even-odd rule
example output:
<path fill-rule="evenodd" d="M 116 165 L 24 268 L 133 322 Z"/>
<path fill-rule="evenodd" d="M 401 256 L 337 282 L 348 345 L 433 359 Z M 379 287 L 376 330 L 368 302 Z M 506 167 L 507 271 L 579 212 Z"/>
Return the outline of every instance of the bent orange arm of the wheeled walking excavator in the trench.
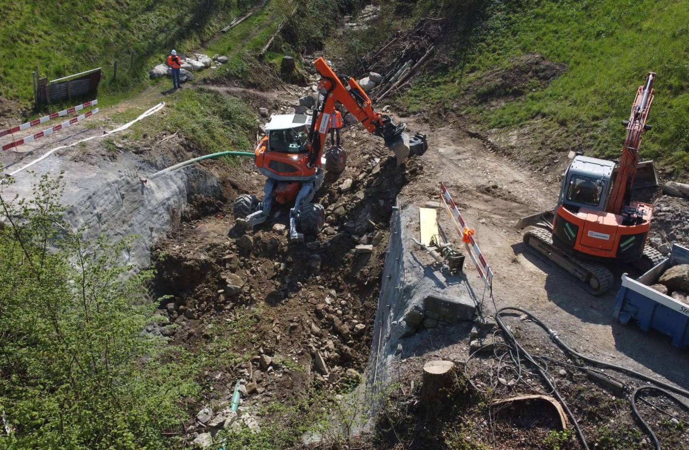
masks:
<path fill-rule="evenodd" d="M 313 111 L 309 142 L 311 145 L 310 164 L 320 164 L 325 139 L 330 129 L 331 118 L 335 113 L 336 103 L 342 104 L 349 114 L 364 125 L 369 133 L 380 136 L 395 155 L 398 161 L 409 154 L 409 136 L 404 133 L 404 124 L 395 125 L 389 116 L 379 114 L 371 105 L 371 99 L 354 78 L 338 76 L 323 58 L 313 61 L 316 70 L 322 77 L 318 88 L 325 90 L 325 101 Z M 402 156 L 402 158 L 400 158 Z"/>

